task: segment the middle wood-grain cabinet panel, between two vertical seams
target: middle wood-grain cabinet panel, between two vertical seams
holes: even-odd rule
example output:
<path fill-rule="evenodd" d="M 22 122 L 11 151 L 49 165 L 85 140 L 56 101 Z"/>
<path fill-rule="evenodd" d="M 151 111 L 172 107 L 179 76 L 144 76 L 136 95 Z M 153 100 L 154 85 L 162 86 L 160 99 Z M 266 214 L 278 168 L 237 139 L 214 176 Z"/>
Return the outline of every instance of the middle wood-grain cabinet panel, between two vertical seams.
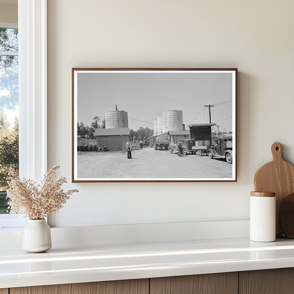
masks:
<path fill-rule="evenodd" d="M 150 294 L 237 294 L 238 273 L 150 279 Z"/>

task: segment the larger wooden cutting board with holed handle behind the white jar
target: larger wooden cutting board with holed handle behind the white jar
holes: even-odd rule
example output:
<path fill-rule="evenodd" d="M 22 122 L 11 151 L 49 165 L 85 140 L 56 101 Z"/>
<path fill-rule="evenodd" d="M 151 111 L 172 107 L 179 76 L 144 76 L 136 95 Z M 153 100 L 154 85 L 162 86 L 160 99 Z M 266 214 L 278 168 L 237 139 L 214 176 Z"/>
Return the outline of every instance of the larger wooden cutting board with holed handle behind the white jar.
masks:
<path fill-rule="evenodd" d="M 283 198 L 293 192 L 294 166 L 282 158 L 282 146 L 279 142 L 271 146 L 273 161 L 258 169 L 254 176 L 254 189 L 257 192 L 275 192 L 276 194 L 276 237 L 283 238 L 279 228 L 279 207 Z"/>

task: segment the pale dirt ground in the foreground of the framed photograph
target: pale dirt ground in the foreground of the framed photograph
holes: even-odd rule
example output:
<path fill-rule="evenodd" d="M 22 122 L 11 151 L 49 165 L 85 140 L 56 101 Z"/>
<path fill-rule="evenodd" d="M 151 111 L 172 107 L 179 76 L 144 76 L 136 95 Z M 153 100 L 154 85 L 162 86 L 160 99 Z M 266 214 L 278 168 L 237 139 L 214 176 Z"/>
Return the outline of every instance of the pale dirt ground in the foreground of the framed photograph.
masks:
<path fill-rule="evenodd" d="M 78 152 L 78 178 L 231 178 L 232 164 L 208 156 L 178 157 L 166 150 L 133 149 L 133 159 L 116 152 Z"/>

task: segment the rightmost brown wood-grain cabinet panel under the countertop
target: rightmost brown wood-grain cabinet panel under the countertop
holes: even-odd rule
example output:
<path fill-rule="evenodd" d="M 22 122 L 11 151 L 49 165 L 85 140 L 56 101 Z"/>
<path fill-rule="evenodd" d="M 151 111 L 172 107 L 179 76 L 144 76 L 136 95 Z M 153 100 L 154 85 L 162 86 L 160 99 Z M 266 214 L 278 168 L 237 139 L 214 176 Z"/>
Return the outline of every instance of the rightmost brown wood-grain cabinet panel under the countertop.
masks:
<path fill-rule="evenodd" d="M 239 294 L 294 293 L 294 268 L 239 272 Z"/>

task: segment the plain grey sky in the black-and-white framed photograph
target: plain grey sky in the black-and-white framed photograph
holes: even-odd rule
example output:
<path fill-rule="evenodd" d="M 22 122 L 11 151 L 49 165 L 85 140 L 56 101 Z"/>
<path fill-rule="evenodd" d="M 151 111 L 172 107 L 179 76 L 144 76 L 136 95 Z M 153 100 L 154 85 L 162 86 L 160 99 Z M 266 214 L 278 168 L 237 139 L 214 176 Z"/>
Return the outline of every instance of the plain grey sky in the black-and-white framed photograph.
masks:
<path fill-rule="evenodd" d="M 182 110 L 183 123 L 209 122 L 207 104 L 232 98 L 230 73 L 78 73 L 78 122 L 101 121 L 106 111 L 128 112 L 129 128 L 153 129 L 153 120 L 167 110 Z M 204 116 L 205 114 L 205 116 Z M 232 131 L 232 102 L 211 108 L 211 122 Z M 132 118 L 150 122 L 140 122 Z M 229 118 L 224 120 L 225 118 Z M 222 121 L 223 120 L 223 121 Z M 220 128 L 220 131 L 222 130 Z"/>

